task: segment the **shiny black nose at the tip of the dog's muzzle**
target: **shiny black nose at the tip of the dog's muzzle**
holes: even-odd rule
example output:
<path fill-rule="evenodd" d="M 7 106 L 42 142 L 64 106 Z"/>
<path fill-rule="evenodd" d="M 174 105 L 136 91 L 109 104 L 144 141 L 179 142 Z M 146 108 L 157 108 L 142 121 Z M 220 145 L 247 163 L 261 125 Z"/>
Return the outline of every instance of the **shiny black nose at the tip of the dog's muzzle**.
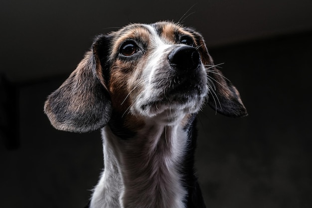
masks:
<path fill-rule="evenodd" d="M 200 63 L 198 51 L 191 46 L 183 45 L 174 48 L 168 55 L 169 63 L 179 70 L 196 69 Z"/>

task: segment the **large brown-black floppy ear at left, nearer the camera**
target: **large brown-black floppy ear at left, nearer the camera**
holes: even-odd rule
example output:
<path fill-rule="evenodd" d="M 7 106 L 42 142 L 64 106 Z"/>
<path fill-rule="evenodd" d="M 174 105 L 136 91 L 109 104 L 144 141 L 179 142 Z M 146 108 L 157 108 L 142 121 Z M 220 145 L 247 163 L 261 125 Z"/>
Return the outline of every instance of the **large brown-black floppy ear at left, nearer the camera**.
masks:
<path fill-rule="evenodd" d="M 108 42 L 108 36 L 97 37 L 77 68 L 45 101 L 44 112 L 56 129 L 90 132 L 109 121 L 111 100 L 103 77 L 107 69 L 101 66 Z"/>

